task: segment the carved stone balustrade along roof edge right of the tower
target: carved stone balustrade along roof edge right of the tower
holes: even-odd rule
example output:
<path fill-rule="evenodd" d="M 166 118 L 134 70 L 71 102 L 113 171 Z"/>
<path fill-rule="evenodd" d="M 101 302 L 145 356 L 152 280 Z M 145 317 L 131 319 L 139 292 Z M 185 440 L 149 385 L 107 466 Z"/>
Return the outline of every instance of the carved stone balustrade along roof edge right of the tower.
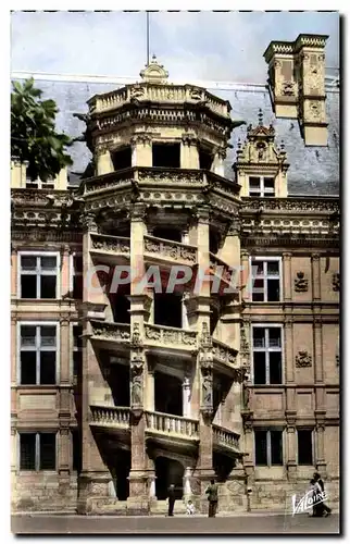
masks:
<path fill-rule="evenodd" d="M 338 197 L 288 197 L 288 198 L 253 198 L 243 197 L 240 212 L 327 212 L 340 213 Z"/>

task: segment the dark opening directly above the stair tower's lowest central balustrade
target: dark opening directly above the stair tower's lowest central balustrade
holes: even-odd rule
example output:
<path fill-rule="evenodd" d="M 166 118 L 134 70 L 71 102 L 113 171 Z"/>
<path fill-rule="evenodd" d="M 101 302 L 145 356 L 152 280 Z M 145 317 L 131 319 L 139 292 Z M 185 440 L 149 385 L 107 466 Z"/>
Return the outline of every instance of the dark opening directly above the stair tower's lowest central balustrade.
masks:
<path fill-rule="evenodd" d="M 154 372 L 155 411 L 183 416 L 183 384 L 178 378 Z"/>

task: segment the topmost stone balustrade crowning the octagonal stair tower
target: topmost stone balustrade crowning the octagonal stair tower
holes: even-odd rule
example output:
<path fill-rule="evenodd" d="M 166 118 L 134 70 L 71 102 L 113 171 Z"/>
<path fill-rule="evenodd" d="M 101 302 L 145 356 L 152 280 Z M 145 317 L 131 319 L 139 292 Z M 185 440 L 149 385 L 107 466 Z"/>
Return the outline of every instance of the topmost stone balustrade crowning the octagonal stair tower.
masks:
<path fill-rule="evenodd" d="M 225 100 L 221 100 L 201 87 L 191 85 L 128 85 L 105 95 L 92 97 L 88 104 L 90 113 L 97 113 L 120 108 L 133 99 L 137 99 L 138 102 L 189 102 L 193 104 L 205 102 L 214 113 L 229 118 L 229 106 Z"/>

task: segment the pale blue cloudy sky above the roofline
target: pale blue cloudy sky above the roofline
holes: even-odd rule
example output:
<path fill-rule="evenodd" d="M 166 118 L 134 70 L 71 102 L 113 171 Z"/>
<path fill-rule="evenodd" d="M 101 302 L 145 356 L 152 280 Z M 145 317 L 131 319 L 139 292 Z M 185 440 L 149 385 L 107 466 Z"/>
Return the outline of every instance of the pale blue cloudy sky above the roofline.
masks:
<path fill-rule="evenodd" d="M 170 79 L 265 83 L 270 41 L 300 33 L 328 35 L 326 65 L 339 65 L 337 13 L 150 14 L 150 50 Z M 137 77 L 145 62 L 145 12 L 12 13 L 12 72 Z"/>

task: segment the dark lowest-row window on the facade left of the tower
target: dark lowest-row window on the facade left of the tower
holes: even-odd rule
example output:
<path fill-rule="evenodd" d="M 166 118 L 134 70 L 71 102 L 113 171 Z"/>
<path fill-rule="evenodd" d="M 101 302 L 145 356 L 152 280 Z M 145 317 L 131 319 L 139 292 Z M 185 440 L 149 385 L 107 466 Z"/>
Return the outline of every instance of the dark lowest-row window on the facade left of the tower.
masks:
<path fill-rule="evenodd" d="M 55 470 L 55 434 L 20 434 L 20 470 Z"/>

